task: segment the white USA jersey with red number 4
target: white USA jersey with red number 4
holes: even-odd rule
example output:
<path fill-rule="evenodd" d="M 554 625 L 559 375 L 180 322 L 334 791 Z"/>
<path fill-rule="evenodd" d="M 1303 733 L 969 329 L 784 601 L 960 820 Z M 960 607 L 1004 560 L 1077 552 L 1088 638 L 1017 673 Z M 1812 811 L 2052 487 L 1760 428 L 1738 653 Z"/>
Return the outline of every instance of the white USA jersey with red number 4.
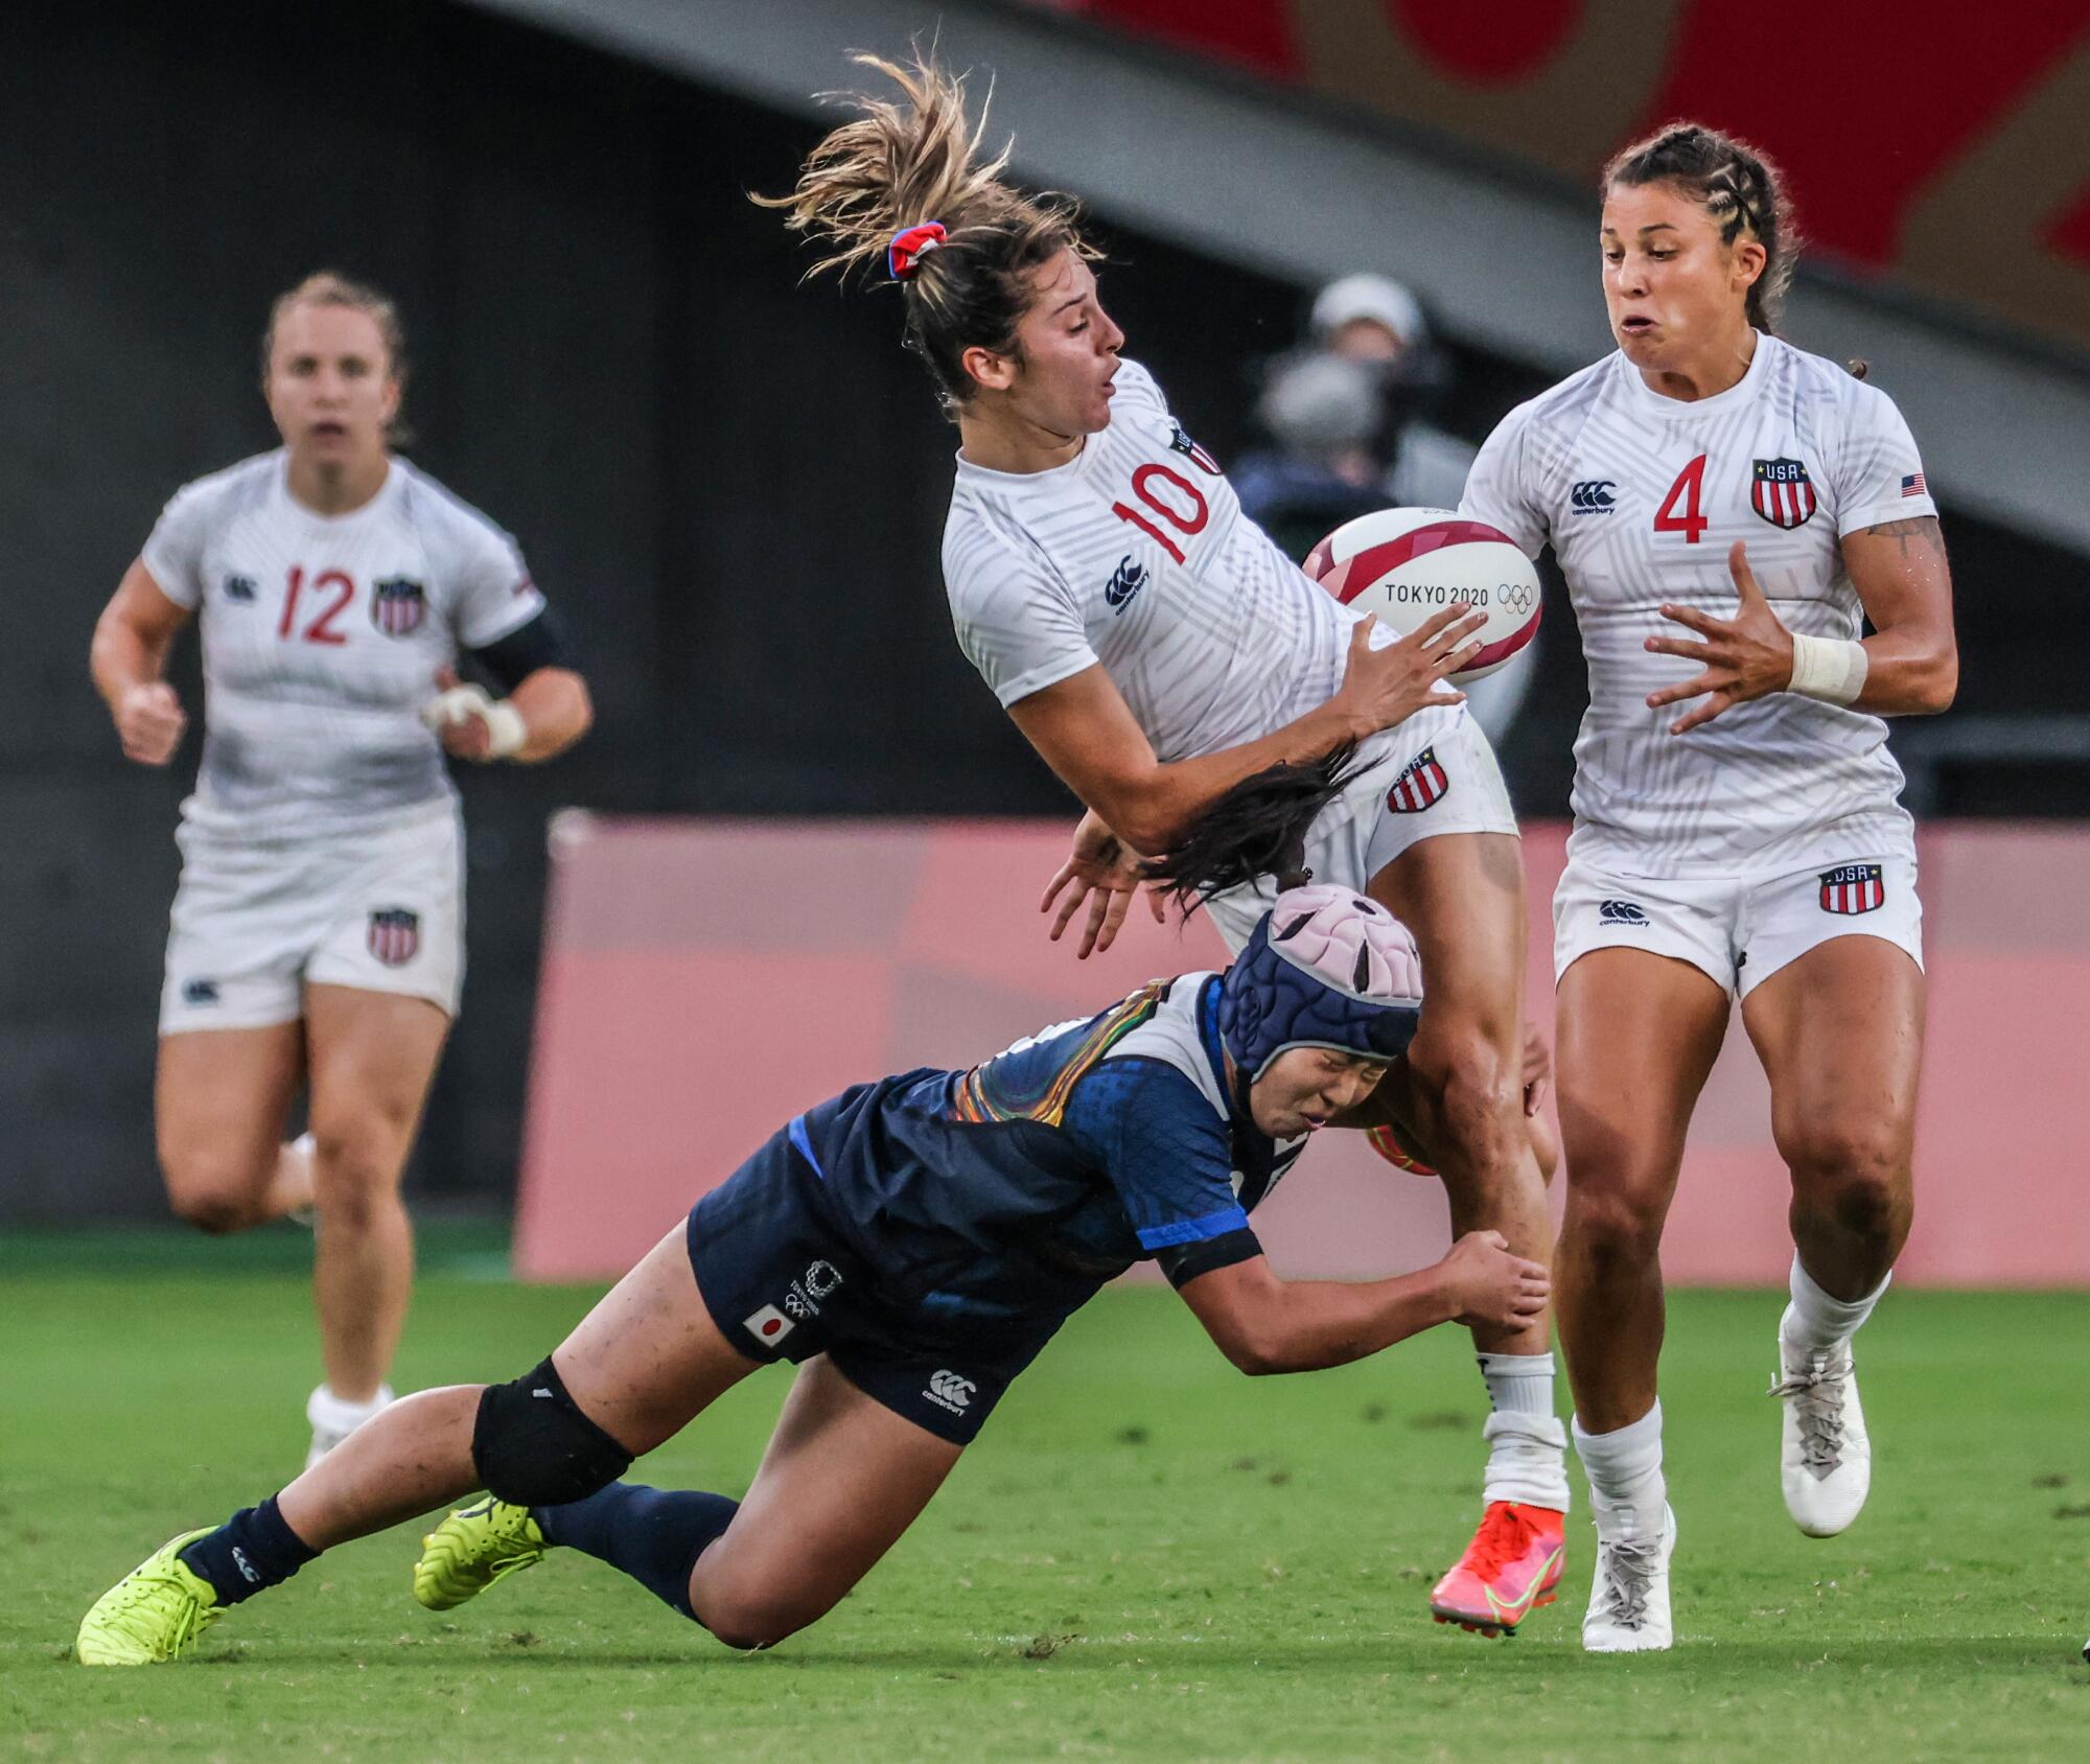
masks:
<path fill-rule="evenodd" d="M 1551 541 L 1588 658 L 1570 851 L 1628 876 L 1737 876 L 1833 857 L 1912 853 L 1887 725 L 1774 692 L 1687 736 L 1647 694 L 1695 663 L 1649 654 L 1693 640 L 1662 602 L 1733 619 L 1737 539 L 1789 631 L 1858 637 L 1841 537 L 1935 514 L 1894 401 L 1843 366 L 1758 336 L 1741 380 L 1695 403 L 1662 397 L 1624 353 L 1503 418 L 1461 512 L 1538 556 Z"/>

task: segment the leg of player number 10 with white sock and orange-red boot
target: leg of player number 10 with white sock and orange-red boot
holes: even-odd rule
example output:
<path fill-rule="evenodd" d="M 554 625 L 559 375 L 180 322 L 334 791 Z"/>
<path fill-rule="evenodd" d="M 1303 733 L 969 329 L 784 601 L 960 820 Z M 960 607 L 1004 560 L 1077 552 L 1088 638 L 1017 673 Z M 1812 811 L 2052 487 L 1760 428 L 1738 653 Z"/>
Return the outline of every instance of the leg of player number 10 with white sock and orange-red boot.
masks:
<path fill-rule="evenodd" d="M 1509 834 L 1442 834 L 1381 869 L 1371 895 L 1407 922 L 1425 999 L 1407 1068 L 1415 1129 L 1444 1179 L 1453 1231 L 1501 1231 L 1551 1258 L 1545 1181 L 1524 1118 L 1524 851 Z M 1473 1329 L 1494 1413 L 1480 1532 L 1432 1611 L 1490 1634 L 1549 1603 L 1561 1574 L 1565 1436 L 1547 1317 Z"/>

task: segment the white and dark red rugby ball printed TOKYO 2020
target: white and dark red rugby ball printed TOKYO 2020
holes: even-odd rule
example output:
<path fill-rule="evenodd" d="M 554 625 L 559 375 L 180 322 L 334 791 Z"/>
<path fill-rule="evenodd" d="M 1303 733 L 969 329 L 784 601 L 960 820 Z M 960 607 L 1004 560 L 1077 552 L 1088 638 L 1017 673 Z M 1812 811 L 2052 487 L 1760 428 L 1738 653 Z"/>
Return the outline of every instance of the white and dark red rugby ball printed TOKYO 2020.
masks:
<path fill-rule="evenodd" d="M 1402 637 L 1455 600 L 1486 612 L 1473 633 L 1480 654 L 1450 675 L 1453 686 L 1507 667 L 1545 610 L 1538 568 L 1515 539 L 1455 508 L 1379 508 L 1344 520 L 1306 554 L 1306 575 Z"/>

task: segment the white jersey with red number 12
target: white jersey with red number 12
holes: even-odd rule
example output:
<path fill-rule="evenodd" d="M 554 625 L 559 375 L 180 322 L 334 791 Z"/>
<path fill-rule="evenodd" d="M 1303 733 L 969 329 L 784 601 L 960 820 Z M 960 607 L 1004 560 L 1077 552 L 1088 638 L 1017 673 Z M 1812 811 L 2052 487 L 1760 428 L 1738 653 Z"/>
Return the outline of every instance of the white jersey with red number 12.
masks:
<path fill-rule="evenodd" d="M 278 447 L 180 489 L 142 560 L 203 631 L 203 767 L 182 815 L 238 838 L 339 838 L 456 800 L 420 706 L 460 648 L 543 610 L 477 508 L 393 460 L 351 514 L 291 495 Z"/>

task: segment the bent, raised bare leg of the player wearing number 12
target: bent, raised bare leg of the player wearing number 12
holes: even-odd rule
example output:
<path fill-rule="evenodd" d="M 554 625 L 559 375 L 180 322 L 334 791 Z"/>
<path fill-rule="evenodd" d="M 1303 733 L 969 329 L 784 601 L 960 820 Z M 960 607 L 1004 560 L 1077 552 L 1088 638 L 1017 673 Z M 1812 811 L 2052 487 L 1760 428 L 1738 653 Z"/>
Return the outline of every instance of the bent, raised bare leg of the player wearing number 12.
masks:
<path fill-rule="evenodd" d="M 215 1235 L 305 1204 L 305 1162 L 282 1143 L 303 1070 L 305 1030 L 295 1020 L 161 1037 L 153 1122 L 167 1200 L 182 1218 Z"/>

